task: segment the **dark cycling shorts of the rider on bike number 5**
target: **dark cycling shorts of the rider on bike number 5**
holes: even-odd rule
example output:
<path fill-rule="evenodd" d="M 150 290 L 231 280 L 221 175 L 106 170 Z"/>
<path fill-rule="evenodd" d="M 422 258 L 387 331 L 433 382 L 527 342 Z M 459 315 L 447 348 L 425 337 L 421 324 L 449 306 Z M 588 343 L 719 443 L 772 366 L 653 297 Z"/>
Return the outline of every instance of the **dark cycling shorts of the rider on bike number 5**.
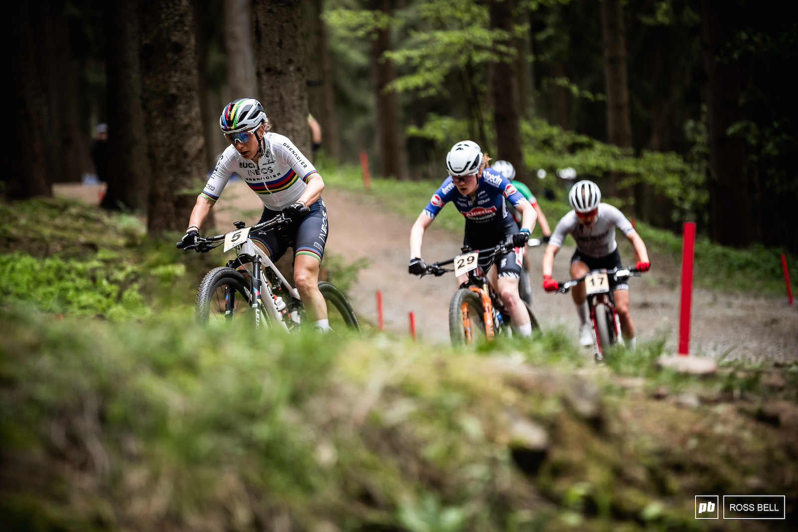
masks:
<path fill-rule="evenodd" d="M 311 203 L 310 212 L 302 218 L 279 228 L 270 227 L 264 231 L 250 233 L 250 238 L 258 242 L 272 262 L 277 262 L 289 247 L 297 255 L 310 255 L 322 261 L 327 242 L 327 209 L 321 198 Z M 264 208 L 258 223 L 267 222 L 282 213 Z"/>

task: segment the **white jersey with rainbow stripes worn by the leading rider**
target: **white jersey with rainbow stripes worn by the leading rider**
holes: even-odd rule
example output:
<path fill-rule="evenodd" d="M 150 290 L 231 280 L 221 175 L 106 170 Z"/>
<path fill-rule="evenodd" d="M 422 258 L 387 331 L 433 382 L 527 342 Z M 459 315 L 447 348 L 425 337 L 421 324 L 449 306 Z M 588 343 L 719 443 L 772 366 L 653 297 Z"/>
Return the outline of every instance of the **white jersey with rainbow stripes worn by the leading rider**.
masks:
<path fill-rule="evenodd" d="M 227 181 L 235 172 L 272 211 L 281 211 L 296 202 L 310 175 L 318 173 L 287 136 L 267 132 L 266 151 L 258 163 L 244 159 L 233 146 L 228 146 L 207 180 L 203 197 L 216 203 Z"/>

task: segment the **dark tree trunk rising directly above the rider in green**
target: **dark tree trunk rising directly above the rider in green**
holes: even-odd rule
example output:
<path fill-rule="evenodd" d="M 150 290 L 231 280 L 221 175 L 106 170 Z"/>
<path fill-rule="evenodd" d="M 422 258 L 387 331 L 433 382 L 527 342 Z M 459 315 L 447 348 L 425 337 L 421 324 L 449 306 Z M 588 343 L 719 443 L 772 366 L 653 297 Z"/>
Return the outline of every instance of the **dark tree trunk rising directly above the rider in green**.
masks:
<path fill-rule="evenodd" d="M 504 30 L 512 35 L 516 21 L 513 17 L 512 0 L 490 2 L 490 25 L 492 30 Z M 512 39 L 512 37 L 511 37 Z M 512 49 L 512 40 L 504 41 Z M 518 70 L 516 59 L 509 53 L 495 50 L 500 61 L 493 66 L 493 119 L 496 123 L 498 157 L 516 167 L 516 179 L 525 181 L 523 154 L 521 152 L 521 129 L 519 120 Z"/>

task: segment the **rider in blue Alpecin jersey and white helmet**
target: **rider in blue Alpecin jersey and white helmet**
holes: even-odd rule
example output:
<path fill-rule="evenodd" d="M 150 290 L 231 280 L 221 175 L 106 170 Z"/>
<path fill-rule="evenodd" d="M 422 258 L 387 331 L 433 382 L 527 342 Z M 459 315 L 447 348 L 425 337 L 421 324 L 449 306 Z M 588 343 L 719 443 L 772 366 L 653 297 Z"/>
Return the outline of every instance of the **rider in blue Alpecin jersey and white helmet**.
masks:
<path fill-rule="evenodd" d="M 411 274 L 422 274 L 426 264 L 421 259 L 421 242 L 424 233 L 446 203 L 453 203 L 465 217 L 463 245 L 474 250 L 486 250 L 512 237 L 512 251 L 496 262 L 489 270 L 493 286 L 500 294 L 504 308 L 512 319 L 512 327 L 520 336 L 532 332 L 529 313 L 518 294 L 518 279 L 523 260 L 522 248 L 535 227 L 537 215 L 531 204 L 519 194 L 516 187 L 498 171 L 486 167 L 488 156 L 478 144 L 471 140 L 458 142 L 446 156 L 449 176 L 438 187 L 427 207 L 418 216 L 410 231 Z M 519 231 L 516 221 L 508 211 L 506 200 L 521 213 L 523 219 Z M 480 266 L 488 263 L 480 257 Z M 467 275 L 457 278 L 458 284 L 467 280 Z"/>

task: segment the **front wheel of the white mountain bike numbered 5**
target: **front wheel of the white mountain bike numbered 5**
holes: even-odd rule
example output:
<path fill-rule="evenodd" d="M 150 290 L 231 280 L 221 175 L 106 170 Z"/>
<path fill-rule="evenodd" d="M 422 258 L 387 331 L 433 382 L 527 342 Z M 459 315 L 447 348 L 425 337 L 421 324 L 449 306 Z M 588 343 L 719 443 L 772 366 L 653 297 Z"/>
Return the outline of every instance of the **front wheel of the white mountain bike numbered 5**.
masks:
<path fill-rule="evenodd" d="M 251 315 L 250 283 L 232 268 L 214 268 L 199 283 L 194 309 L 200 325 L 231 322 Z"/>

